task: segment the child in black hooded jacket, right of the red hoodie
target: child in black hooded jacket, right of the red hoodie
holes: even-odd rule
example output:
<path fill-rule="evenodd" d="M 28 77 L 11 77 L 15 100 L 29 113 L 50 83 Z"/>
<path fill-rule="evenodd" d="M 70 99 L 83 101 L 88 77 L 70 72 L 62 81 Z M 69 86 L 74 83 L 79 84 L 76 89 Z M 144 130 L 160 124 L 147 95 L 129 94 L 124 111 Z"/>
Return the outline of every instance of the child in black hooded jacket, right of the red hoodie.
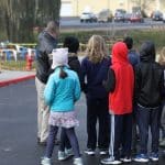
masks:
<path fill-rule="evenodd" d="M 140 51 L 140 64 L 135 67 L 136 121 L 140 130 L 140 154 L 135 162 L 158 161 L 160 109 L 163 100 L 163 69 L 155 62 L 155 45 L 144 42 Z M 147 155 L 148 128 L 152 134 L 151 154 Z"/>

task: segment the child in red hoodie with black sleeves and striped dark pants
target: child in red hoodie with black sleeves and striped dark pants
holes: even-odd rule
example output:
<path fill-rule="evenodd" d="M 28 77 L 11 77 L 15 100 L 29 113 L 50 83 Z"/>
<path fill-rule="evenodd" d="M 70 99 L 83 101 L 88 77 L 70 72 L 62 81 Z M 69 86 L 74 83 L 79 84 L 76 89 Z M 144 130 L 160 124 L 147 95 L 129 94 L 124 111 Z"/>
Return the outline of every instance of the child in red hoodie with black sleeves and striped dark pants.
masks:
<path fill-rule="evenodd" d="M 128 59 L 128 47 L 123 42 L 118 42 L 112 47 L 112 65 L 105 87 L 109 91 L 111 142 L 109 157 L 101 160 L 101 163 L 131 162 L 134 73 Z M 120 146 L 122 146 L 121 153 Z"/>

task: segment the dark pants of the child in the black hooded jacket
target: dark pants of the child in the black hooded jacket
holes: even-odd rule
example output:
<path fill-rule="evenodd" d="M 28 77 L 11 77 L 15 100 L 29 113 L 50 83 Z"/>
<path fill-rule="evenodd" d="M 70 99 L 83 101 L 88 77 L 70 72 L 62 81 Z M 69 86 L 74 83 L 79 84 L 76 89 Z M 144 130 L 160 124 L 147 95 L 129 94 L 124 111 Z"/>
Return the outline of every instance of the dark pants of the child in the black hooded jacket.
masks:
<path fill-rule="evenodd" d="M 158 152 L 160 107 L 148 109 L 138 106 L 136 121 L 140 130 L 140 152 L 147 153 L 148 128 L 152 134 L 152 152 Z"/>

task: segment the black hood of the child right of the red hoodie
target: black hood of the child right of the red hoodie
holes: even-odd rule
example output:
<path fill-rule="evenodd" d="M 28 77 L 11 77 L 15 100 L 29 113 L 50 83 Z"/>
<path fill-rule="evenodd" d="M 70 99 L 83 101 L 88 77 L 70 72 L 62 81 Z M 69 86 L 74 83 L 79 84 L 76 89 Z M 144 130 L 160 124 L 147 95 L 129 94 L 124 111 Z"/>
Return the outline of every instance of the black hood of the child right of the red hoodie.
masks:
<path fill-rule="evenodd" d="M 146 41 L 142 44 L 140 50 L 141 62 L 154 62 L 155 61 L 155 45 L 151 41 Z"/>

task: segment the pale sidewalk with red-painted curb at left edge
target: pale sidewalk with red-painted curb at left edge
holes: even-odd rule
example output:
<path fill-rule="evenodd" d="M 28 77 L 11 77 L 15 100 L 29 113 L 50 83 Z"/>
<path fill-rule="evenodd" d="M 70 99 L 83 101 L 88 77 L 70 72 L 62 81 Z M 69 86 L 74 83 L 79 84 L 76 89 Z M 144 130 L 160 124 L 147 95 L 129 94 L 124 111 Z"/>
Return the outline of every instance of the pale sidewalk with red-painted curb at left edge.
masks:
<path fill-rule="evenodd" d="M 9 86 L 35 77 L 35 72 L 1 70 L 0 87 Z"/>

